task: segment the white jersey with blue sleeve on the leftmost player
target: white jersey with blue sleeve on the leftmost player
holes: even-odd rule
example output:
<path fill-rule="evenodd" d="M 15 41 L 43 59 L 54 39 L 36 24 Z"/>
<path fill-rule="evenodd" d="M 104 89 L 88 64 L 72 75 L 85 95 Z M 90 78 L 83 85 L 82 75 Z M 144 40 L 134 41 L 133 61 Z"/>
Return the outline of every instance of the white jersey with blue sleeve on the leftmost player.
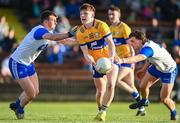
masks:
<path fill-rule="evenodd" d="M 30 65 L 48 46 L 48 40 L 42 36 L 49 31 L 42 25 L 34 27 L 24 38 L 11 57 L 18 63 Z"/>

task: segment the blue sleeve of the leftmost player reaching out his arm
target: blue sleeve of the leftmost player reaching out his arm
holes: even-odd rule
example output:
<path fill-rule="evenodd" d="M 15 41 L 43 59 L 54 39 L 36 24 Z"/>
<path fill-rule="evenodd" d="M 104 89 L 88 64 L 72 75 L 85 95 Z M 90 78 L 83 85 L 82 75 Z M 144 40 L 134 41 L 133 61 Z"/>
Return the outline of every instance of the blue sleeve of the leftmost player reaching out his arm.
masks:
<path fill-rule="evenodd" d="M 34 38 L 36 40 L 40 40 L 42 39 L 42 36 L 45 34 L 45 33 L 48 33 L 49 31 L 45 28 L 39 28 L 37 29 L 35 32 L 34 32 Z"/>

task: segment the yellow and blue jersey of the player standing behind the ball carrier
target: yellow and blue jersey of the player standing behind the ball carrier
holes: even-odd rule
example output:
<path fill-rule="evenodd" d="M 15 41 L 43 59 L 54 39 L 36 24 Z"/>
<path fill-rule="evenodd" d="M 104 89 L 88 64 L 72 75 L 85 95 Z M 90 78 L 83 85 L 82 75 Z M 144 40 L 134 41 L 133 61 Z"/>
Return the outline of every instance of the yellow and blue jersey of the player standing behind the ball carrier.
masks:
<path fill-rule="evenodd" d="M 120 58 L 129 57 L 132 55 L 131 47 L 126 43 L 126 39 L 131 33 L 130 27 L 124 22 L 120 22 L 117 26 L 110 26 L 113 41 L 116 46 L 116 53 Z"/>

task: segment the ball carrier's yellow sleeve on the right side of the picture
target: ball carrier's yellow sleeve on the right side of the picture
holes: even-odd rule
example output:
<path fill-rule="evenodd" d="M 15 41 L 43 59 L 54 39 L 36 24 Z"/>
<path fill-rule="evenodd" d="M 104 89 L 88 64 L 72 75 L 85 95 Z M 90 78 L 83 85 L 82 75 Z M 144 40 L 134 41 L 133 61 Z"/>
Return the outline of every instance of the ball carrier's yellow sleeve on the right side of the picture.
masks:
<path fill-rule="evenodd" d="M 100 26 L 99 29 L 100 29 L 100 33 L 102 34 L 103 37 L 111 34 L 111 30 L 106 23 L 102 23 L 102 25 Z"/>

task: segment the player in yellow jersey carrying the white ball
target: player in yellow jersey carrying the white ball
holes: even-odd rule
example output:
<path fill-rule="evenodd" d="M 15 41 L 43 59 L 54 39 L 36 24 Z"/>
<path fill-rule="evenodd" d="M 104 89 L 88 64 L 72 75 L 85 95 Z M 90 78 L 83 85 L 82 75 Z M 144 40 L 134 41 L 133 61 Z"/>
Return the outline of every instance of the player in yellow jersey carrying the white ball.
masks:
<path fill-rule="evenodd" d="M 116 53 L 111 31 L 105 22 L 95 19 L 95 11 L 94 6 L 88 3 L 84 3 L 80 7 L 82 26 L 76 33 L 76 39 L 84 58 L 93 66 L 93 80 L 96 86 L 96 103 L 98 105 L 98 114 L 95 120 L 105 121 L 106 109 L 114 98 L 119 68 L 113 64 Z M 96 61 L 101 57 L 109 58 L 112 63 L 112 69 L 106 74 L 96 71 Z"/>

